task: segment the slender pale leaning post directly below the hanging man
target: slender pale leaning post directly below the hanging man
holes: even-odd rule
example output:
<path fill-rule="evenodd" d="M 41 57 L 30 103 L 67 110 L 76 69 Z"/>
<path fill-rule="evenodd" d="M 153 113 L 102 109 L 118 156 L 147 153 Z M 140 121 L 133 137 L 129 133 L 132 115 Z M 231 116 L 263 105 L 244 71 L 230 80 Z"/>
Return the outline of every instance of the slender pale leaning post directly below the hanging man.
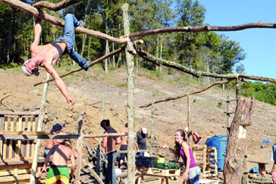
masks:
<path fill-rule="evenodd" d="M 45 81 L 47 81 L 49 79 L 49 74 L 47 73 L 45 76 Z M 43 122 L 43 113 L 44 113 L 44 108 L 45 108 L 45 103 L 46 103 L 46 98 L 47 98 L 47 93 L 48 93 L 48 83 L 44 84 L 44 92 L 43 92 L 43 96 L 42 96 L 42 102 L 41 102 L 41 108 L 40 108 L 40 117 L 39 117 L 39 121 L 38 121 L 38 132 L 41 131 L 41 127 L 42 127 L 42 122 Z M 32 164 L 32 171 L 31 171 L 31 175 L 30 175 L 30 183 L 31 184 L 35 184 L 35 173 L 36 170 L 38 168 L 38 153 L 40 150 L 40 139 L 35 140 L 36 144 L 35 144 L 35 152 L 33 154 L 33 164 Z"/>

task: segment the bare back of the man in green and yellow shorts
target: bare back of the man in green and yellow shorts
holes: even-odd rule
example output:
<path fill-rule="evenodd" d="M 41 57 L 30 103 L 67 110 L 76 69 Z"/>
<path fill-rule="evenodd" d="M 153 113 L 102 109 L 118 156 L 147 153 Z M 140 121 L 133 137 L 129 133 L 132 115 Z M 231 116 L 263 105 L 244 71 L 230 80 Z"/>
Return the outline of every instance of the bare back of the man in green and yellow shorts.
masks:
<path fill-rule="evenodd" d="M 74 154 L 72 149 L 62 144 L 58 144 L 54 146 L 53 150 L 54 154 L 52 154 L 52 164 L 64 166 L 67 165 L 67 159 Z"/>

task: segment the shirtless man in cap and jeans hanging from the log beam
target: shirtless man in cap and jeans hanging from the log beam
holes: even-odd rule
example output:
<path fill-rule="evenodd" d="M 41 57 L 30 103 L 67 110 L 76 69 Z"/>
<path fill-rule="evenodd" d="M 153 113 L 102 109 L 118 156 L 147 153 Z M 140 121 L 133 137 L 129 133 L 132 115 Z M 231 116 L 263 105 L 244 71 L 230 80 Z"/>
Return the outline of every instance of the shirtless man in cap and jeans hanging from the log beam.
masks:
<path fill-rule="evenodd" d="M 43 11 L 43 13 L 45 13 Z M 46 71 L 52 76 L 56 82 L 57 88 L 62 92 L 69 105 L 75 105 L 75 101 L 69 96 L 67 87 L 64 81 L 59 77 L 57 71 L 54 69 L 54 64 L 62 57 L 63 54 L 69 54 L 69 57 L 79 64 L 79 67 L 85 71 L 89 69 L 89 64 L 84 57 L 81 57 L 73 50 L 75 39 L 75 28 L 81 25 L 79 21 L 72 14 L 67 14 L 64 18 L 64 37 L 59 38 L 57 42 L 52 42 L 47 45 L 38 45 L 40 42 L 40 35 L 42 32 L 42 25 L 40 18 L 35 21 L 35 39 L 30 45 L 30 52 L 32 59 L 24 62 L 22 69 L 25 76 L 39 75 L 38 66 L 44 67 Z M 82 22 L 83 23 L 83 22 Z"/>

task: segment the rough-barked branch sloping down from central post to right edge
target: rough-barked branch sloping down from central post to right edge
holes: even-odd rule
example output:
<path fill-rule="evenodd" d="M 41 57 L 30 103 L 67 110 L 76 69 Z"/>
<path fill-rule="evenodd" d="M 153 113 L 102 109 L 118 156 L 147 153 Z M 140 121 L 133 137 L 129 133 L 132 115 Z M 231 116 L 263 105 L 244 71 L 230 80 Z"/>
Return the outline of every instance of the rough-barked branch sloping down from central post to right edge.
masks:
<path fill-rule="evenodd" d="M 146 59 L 149 62 L 152 62 L 158 66 L 163 65 L 166 67 L 171 67 L 173 69 L 178 69 L 180 71 L 183 71 L 187 74 L 191 74 L 192 76 L 195 76 L 197 78 L 200 78 L 201 76 L 209 76 L 213 78 L 219 78 L 219 79 L 250 79 L 254 81 L 266 81 L 266 82 L 272 82 L 276 83 L 276 79 L 271 79 L 267 77 L 262 77 L 262 76 L 248 76 L 246 74 L 214 74 L 214 73 L 209 73 L 205 71 L 197 71 L 195 69 L 189 69 L 188 67 L 183 66 L 182 64 L 178 64 L 176 62 L 171 62 L 165 59 L 161 59 L 159 57 L 155 57 L 154 55 L 151 54 L 144 54 L 144 52 L 138 51 L 139 57 L 142 57 Z"/>

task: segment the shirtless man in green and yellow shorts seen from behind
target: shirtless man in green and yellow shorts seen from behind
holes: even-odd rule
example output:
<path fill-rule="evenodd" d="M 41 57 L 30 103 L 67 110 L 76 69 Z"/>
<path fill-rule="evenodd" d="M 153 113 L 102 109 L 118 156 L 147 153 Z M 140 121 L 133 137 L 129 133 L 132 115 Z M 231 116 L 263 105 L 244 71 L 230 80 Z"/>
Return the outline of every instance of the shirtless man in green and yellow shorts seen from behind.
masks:
<path fill-rule="evenodd" d="M 52 164 L 47 173 L 46 184 L 63 182 L 64 184 L 69 184 L 69 180 L 72 180 L 74 176 L 74 171 L 76 168 L 76 160 L 74 151 L 70 148 L 71 142 L 65 140 L 61 144 L 54 145 L 47 154 L 45 163 L 42 168 L 42 175 L 45 176 L 47 173 L 46 166 L 52 155 Z M 67 160 L 71 159 L 71 172 L 67 168 Z"/>

